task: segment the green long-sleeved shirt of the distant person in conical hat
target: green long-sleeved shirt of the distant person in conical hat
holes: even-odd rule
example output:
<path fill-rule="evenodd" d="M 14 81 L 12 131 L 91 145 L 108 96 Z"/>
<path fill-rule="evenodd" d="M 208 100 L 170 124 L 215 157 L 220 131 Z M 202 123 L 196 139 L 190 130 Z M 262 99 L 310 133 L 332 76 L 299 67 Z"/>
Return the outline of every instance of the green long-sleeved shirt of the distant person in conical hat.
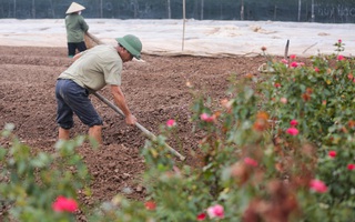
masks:
<path fill-rule="evenodd" d="M 65 17 L 67 41 L 78 43 L 84 41 L 84 33 L 89 30 L 84 18 L 78 13 Z"/>

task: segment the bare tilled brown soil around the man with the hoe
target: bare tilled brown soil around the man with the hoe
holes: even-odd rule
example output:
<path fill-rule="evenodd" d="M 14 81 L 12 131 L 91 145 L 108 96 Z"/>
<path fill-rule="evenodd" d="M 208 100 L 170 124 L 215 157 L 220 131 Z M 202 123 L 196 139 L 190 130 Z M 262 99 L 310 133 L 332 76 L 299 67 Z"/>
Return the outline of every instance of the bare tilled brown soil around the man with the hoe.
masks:
<path fill-rule="evenodd" d="M 122 89 L 139 123 L 154 134 L 169 119 L 178 121 L 178 140 L 170 145 L 195 164 L 191 155 L 199 135 L 189 121 L 193 97 L 186 82 L 216 101 L 226 97 L 229 77 L 252 73 L 265 61 L 256 58 L 155 57 L 143 54 L 145 62 L 124 64 Z M 57 139 L 54 84 L 57 77 L 72 63 L 65 48 L 0 47 L 0 128 L 14 123 L 14 133 L 32 148 L 51 152 Z M 101 92 L 111 100 L 104 88 Z M 122 193 L 143 199 L 140 174 L 144 170 L 140 150 L 145 138 L 138 128 L 125 124 L 122 117 L 92 95 L 104 120 L 104 145 L 99 151 L 83 147 L 80 153 L 93 175 L 92 199 L 87 203 L 112 199 Z M 72 137 L 88 128 L 75 119 Z M 201 135 L 200 135 L 201 137 Z M 1 140 L 0 140 L 1 142 Z M 124 192 L 131 189 L 131 193 Z"/>

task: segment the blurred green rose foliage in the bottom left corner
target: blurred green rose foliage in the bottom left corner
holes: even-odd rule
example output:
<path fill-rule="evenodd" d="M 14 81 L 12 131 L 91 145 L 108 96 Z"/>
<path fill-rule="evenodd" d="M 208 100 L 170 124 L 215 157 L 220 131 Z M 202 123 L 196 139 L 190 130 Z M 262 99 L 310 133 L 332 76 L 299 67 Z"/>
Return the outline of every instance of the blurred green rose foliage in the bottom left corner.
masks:
<path fill-rule="evenodd" d="M 88 170 L 74 148 L 83 138 L 59 142 L 57 152 L 34 152 L 12 135 L 12 125 L 1 132 L 11 145 L 0 147 L 0 204 L 9 211 L 6 220 L 75 221 L 71 213 L 57 213 L 52 203 L 59 195 L 77 199 L 77 191 L 85 188 Z M 53 148 L 54 151 L 54 148 Z"/>

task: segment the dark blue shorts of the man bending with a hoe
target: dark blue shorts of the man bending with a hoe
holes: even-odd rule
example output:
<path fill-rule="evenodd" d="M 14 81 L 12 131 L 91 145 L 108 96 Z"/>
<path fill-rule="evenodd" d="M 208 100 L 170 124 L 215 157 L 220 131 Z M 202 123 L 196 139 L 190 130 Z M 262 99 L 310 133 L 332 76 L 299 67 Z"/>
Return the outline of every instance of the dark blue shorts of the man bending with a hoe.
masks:
<path fill-rule="evenodd" d="M 63 129 L 74 125 L 73 113 L 90 128 L 102 125 L 102 119 L 89 99 L 89 91 L 72 80 L 59 79 L 55 84 L 57 123 Z"/>

